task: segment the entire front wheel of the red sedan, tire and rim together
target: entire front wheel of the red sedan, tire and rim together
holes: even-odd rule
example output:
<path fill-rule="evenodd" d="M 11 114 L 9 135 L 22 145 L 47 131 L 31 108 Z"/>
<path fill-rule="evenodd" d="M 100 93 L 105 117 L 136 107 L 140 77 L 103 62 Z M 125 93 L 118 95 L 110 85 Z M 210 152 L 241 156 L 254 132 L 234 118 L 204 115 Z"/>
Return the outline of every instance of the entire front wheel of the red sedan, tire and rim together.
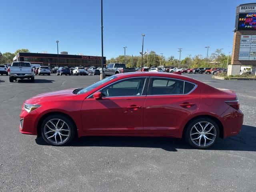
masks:
<path fill-rule="evenodd" d="M 75 138 L 76 134 L 76 126 L 70 118 L 64 115 L 48 116 L 41 124 L 42 138 L 53 146 L 68 144 Z"/>

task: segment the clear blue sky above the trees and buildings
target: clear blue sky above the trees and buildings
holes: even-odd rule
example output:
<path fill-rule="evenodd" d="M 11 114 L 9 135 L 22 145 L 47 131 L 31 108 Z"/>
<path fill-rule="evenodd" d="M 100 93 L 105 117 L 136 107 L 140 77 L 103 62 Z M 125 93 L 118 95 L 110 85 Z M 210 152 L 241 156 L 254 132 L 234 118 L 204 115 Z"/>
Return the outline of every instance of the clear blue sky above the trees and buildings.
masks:
<path fill-rule="evenodd" d="M 104 0 L 104 56 L 138 55 L 144 49 L 164 56 L 206 56 L 232 50 L 235 10 L 245 0 Z M 0 6 L 0 52 L 101 55 L 100 0 L 4 0 Z"/>

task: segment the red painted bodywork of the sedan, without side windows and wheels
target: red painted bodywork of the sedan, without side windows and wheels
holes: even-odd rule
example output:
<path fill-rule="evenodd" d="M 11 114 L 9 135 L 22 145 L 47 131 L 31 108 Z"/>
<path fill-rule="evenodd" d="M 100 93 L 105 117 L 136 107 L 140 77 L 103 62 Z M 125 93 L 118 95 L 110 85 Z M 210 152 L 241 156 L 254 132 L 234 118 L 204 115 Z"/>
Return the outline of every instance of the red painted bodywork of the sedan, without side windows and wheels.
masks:
<path fill-rule="evenodd" d="M 63 113 L 74 121 L 78 137 L 89 135 L 164 136 L 182 138 L 186 124 L 198 116 L 210 116 L 218 121 L 222 138 L 236 135 L 243 123 L 243 114 L 225 101 L 236 100 L 231 90 L 220 90 L 192 78 L 170 73 L 134 72 L 117 74 L 117 78 L 84 94 L 74 89 L 40 94 L 26 100 L 40 104 L 28 113 L 23 108 L 23 134 L 38 134 L 40 120 L 48 113 Z M 145 95 L 111 98 L 88 98 L 112 82 L 130 77 L 166 77 L 196 84 L 189 94 Z M 97 93 L 98 94 L 98 93 Z"/>

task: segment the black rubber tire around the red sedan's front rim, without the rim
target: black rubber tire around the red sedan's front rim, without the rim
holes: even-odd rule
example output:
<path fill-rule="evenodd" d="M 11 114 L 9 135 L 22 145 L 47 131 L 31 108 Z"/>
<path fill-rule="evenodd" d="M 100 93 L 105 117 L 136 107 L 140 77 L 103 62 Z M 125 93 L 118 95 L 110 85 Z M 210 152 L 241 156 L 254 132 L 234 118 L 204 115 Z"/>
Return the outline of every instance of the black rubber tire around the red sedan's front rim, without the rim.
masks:
<path fill-rule="evenodd" d="M 44 135 L 44 126 L 51 119 L 63 120 L 64 122 L 66 122 L 66 124 L 68 124 L 68 126 L 70 128 L 70 136 L 69 136 L 68 140 L 66 140 L 62 144 L 52 143 Z M 66 117 L 64 115 L 51 115 L 51 116 L 45 118 L 44 121 L 41 124 L 41 135 L 42 135 L 42 138 L 44 139 L 45 142 L 47 142 L 48 144 L 53 145 L 53 146 L 64 146 L 64 145 L 68 144 L 69 142 L 71 142 L 74 139 L 74 137 L 76 136 L 76 133 L 77 132 L 76 132 L 76 128 L 75 128 L 74 123 L 72 122 L 72 120 L 70 120 L 70 118 L 68 118 L 68 117 Z"/>

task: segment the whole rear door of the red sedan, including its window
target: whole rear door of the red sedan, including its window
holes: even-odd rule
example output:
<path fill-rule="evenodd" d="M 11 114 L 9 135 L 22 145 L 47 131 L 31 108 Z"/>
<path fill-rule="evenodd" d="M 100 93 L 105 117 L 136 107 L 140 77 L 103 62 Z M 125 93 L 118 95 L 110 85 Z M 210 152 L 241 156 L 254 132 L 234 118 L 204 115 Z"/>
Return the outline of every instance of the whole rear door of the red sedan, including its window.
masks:
<path fill-rule="evenodd" d="M 192 92 L 191 92 L 192 91 Z M 183 120 L 198 110 L 200 89 L 172 78 L 150 78 L 144 104 L 145 134 L 177 134 Z"/>

